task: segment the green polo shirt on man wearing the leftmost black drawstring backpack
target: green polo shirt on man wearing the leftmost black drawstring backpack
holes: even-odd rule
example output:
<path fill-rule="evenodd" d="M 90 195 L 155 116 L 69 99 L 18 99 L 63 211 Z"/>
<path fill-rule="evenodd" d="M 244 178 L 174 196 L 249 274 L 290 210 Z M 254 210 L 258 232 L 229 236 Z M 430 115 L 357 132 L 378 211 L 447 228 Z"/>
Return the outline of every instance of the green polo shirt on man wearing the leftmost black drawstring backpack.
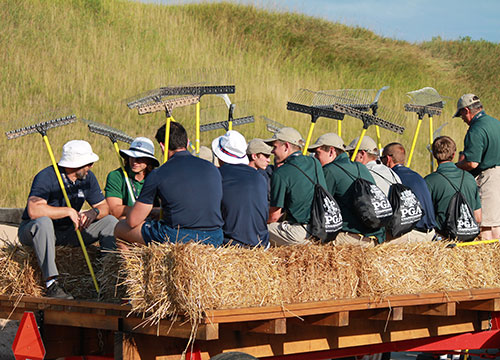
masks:
<path fill-rule="evenodd" d="M 274 171 L 271 178 L 270 205 L 282 208 L 290 223 L 307 224 L 311 216 L 314 184 L 291 164 L 298 166 L 312 180 L 316 181 L 317 173 L 317 182 L 326 187 L 319 161 L 297 151 Z"/>

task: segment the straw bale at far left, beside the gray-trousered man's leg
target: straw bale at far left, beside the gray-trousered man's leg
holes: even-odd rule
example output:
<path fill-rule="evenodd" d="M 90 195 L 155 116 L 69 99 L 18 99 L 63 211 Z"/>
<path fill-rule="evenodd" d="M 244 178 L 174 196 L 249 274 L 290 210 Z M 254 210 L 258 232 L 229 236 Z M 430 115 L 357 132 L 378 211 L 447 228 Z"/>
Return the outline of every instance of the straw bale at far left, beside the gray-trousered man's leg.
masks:
<path fill-rule="evenodd" d="M 5 243 L 0 248 L 0 294 L 42 296 L 38 265 L 22 246 Z"/>

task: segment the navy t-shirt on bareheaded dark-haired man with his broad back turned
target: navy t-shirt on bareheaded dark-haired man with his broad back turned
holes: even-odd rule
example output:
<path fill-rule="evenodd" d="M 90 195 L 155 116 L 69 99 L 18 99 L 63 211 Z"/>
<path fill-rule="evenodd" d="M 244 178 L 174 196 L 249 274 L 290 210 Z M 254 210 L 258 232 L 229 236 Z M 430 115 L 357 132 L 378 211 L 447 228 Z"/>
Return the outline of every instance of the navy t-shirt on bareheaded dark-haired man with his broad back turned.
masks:
<path fill-rule="evenodd" d="M 217 230 L 222 228 L 222 180 L 210 162 L 188 151 L 175 153 L 165 164 L 153 170 L 137 201 L 153 204 L 160 197 L 166 225 L 184 229 Z"/>

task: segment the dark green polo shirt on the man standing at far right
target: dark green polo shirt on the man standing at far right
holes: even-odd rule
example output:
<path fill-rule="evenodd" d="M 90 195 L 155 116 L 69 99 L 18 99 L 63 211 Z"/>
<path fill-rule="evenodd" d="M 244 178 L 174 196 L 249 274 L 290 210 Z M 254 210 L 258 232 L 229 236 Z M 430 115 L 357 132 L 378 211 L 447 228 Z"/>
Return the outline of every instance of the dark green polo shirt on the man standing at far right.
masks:
<path fill-rule="evenodd" d="M 471 173 L 479 175 L 483 170 L 500 166 L 500 121 L 478 112 L 471 120 L 464 139 L 464 155 L 467 161 L 479 163 Z"/>

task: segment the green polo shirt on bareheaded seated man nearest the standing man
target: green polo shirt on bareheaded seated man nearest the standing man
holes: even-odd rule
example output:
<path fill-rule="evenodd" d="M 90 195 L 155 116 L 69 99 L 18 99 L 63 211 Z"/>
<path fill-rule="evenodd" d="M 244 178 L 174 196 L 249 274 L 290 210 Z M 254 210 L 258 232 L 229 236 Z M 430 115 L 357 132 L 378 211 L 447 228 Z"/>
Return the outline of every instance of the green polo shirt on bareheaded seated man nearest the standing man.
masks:
<path fill-rule="evenodd" d="M 432 204 L 434 205 L 438 230 L 443 228 L 448 205 L 450 204 L 451 198 L 456 193 L 451 184 L 439 174 L 446 176 L 457 189 L 460 188 L 463 174 L 464 181 L 460 188 L 460 192 L 464 195 L 473 211 L 481 208 L 479 188 L 477 187 L 474 177 L 467 171 L 457 168 L 451 161 L 439 164 L 436 172 L 425 177 L 425 182 L 431 193 Z"/>

